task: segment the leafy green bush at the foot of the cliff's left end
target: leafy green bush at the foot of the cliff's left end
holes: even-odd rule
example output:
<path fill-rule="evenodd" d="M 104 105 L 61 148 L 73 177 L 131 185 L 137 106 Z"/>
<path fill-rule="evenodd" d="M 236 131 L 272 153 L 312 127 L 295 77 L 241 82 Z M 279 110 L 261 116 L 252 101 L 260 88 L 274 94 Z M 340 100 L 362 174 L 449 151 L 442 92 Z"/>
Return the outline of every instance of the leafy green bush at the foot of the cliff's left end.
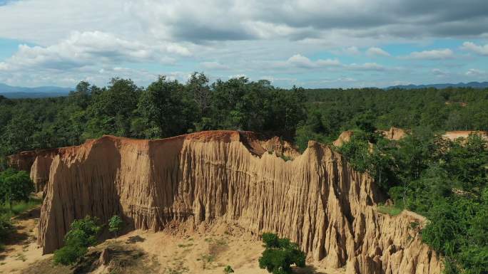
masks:
<path fill-rule="evenodd" d="M 64 246 L 54 251 L 54 264 L 72 265 L 88 251 L 88 246 L 96 244 L 100 231 L 97 218 L 86 216 L 71 223 L 71 230 L 64 236 Z"/>

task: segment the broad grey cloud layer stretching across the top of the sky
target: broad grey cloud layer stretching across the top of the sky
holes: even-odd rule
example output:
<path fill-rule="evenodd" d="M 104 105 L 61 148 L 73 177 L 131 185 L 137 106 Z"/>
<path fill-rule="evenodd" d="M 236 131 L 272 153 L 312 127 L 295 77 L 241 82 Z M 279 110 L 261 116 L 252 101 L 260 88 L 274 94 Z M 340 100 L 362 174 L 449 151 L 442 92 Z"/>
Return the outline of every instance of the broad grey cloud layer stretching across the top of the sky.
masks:
<path fill-rule="evenodd" d="M 24 0 L 1 6 L 0 36 L 38 43 L 73 29 L 195 43 L 328 38 L 337 30 L 358 38 L 482 36 L 488 5 L 468 1 L 459 9 L 459 0 Z"/>

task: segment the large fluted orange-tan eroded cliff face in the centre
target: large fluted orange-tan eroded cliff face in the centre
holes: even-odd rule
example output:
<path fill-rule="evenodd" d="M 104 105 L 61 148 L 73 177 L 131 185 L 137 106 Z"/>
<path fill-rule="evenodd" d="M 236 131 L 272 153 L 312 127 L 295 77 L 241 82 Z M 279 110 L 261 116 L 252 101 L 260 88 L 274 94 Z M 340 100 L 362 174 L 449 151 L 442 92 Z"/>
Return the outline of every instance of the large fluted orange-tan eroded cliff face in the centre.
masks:
<path fill-rule="evenodd" d="M 441 263 L 411 223 L 375 210 L 376 187 L 340 154 L 309 142 L 285 161 L 251 132 L 198 132 L 159 140 L 105 136 L 53 157 L 41 208 L 44 253 L 69 224 L 121 214 L 133 228 L 234 224 L 273 231 L 310 258 L 347 273 L 440 273 Z M 40 167 L 40 165 L 39 165 Z"/>

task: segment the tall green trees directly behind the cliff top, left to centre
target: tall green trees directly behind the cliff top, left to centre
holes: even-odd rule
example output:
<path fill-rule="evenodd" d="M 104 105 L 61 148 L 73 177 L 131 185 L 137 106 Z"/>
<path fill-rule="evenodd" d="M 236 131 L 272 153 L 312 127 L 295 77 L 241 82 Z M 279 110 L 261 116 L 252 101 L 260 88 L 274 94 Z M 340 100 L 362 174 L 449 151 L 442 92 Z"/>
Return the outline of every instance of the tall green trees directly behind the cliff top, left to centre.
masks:
<path fill-rule="evenodd" d="M 147 88 L 113 78 L 82 81 L 67 97 L 0 98 L 0 154 L 76 145 L 102 135 L 163 138 L 201 130 L 252 130 L 293 137 L 305 119 L 302 88 L 275 88 L 248 78 L 186 83 L 161 76 Z"/>

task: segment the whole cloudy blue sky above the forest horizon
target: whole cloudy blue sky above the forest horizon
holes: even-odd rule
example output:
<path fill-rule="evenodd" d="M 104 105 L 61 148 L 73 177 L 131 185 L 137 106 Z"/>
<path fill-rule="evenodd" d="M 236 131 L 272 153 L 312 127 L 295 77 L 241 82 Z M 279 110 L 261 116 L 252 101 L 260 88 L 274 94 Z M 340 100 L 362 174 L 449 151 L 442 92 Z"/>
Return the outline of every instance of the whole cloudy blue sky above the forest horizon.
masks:
<path fill-rule="evenodd" d="M 488 80 L 487 0 L 0 0 L 0 83 Z"/>

